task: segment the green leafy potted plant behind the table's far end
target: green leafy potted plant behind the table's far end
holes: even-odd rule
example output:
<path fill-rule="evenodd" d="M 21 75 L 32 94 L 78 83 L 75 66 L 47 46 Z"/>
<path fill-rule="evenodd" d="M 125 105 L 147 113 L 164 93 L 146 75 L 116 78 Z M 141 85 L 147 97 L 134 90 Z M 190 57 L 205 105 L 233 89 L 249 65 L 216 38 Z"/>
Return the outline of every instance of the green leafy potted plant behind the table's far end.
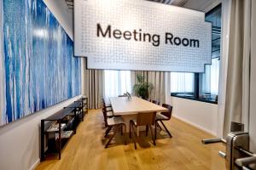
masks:
<path fill-rule="evenodd" d="M 137 84 L 133 86 L 133 92 L 140 98 L 148 99 L 148 94 L 150 94 L 153 89 L 153 84 L 151 82 L 145 82 L 145 77 L 141 74 L 137 74 Z"/>

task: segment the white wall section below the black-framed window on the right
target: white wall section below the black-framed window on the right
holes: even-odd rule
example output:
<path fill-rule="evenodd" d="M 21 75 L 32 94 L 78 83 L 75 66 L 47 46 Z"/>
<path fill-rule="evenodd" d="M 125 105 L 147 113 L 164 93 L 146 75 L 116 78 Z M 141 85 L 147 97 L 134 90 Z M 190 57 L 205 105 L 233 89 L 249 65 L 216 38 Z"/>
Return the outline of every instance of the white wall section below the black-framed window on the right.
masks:
<path fill-rule="evenodd" d="M 172 116 L 216 136 L 218 105 L 171 96 L 167 97 L 166 103 L 173 105 Z"/>

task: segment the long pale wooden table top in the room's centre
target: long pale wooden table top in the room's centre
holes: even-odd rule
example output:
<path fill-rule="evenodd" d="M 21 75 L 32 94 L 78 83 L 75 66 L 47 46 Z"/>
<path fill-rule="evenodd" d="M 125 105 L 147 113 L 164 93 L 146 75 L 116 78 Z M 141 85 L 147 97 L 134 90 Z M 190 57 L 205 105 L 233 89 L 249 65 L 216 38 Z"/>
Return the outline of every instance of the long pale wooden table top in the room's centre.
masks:
<path fill-rule="evenodd" d="M 131 101 L 127 97 L 113 97 L 110 98 L 110 103 L 113 108 L 114 115 L 135 115 L 138 112 L 165 112 L 168 111 L 165 107 L 155 105 L 145 99 L 132 97 Z"/>

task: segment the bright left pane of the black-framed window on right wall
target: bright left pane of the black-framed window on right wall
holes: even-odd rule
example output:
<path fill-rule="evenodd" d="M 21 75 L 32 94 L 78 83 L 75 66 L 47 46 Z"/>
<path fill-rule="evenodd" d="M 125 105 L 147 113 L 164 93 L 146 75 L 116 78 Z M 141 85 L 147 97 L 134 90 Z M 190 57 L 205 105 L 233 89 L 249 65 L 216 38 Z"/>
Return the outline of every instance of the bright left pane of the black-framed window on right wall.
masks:
<path fill-rule="evenodd" d="M 195 74 L 172 72 L 171 93 L 179 95 L 191 95 L 194 93 Z"/>

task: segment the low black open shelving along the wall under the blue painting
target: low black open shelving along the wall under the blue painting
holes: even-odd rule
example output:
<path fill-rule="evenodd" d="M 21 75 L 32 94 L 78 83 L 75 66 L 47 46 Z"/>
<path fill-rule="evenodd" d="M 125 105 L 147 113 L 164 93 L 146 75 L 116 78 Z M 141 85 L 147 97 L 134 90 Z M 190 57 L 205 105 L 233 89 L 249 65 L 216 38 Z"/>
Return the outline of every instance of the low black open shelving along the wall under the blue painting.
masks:
<path fill-rule="evenodd" d="M 58 153 L 61 159 L 62 148 L 76 133 L 79 122 L 84 121 L 87 108 L 87 98 L 80 98 L 54 115 L 41 120 L 41 161 L 51 153 Z"/>

